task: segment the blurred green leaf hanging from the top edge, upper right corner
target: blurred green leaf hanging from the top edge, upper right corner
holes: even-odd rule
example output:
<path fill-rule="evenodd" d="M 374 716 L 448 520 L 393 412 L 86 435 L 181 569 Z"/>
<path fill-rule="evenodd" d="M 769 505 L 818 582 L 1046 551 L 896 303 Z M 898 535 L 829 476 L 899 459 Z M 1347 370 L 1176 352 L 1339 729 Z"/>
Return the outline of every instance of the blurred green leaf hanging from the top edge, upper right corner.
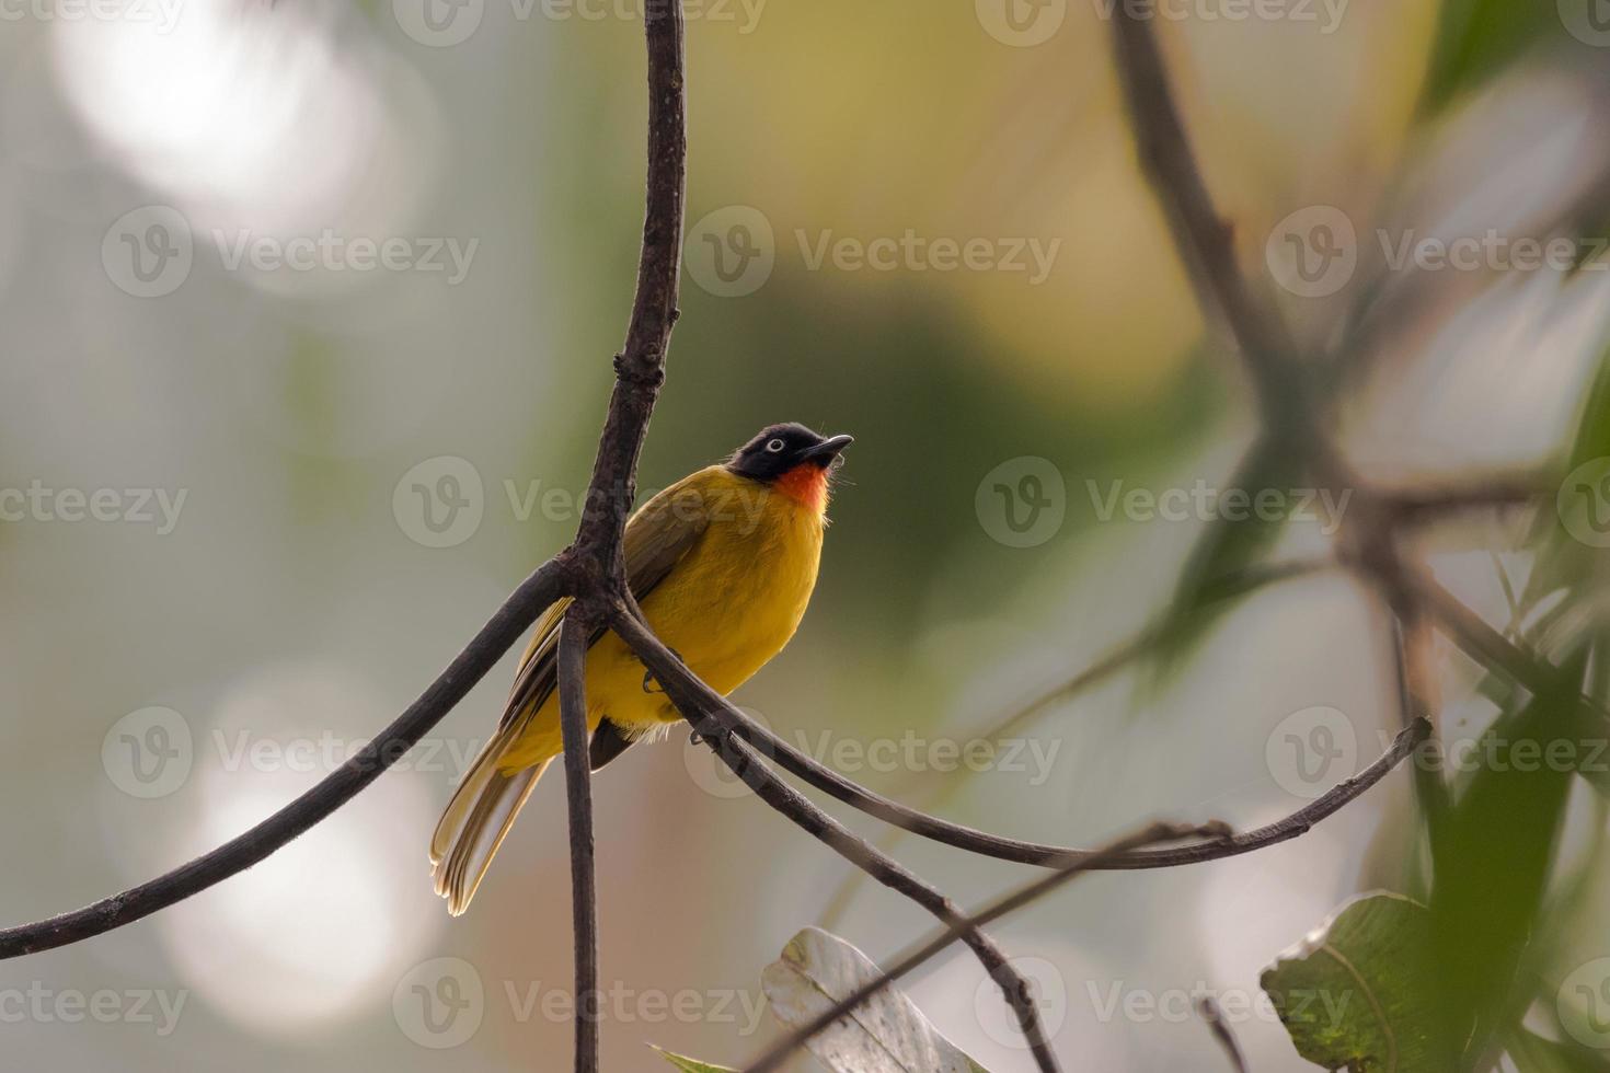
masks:
<path fill-rule="evenodd" d="M 1422 114 L 1441 111 L 1501 72 L 1544 32 L 1558 29 L 1554 0 L 1443 0 Z"/>

